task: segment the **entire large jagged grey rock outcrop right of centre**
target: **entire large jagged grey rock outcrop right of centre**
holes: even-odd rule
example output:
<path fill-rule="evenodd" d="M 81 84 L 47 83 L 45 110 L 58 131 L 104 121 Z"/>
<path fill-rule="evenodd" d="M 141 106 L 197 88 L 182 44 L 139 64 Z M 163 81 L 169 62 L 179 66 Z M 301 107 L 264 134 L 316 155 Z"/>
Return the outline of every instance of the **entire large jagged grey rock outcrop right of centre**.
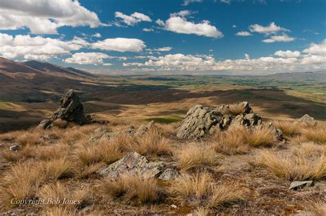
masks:
<path fill-rule="evenodd" d="M 207 133 L 213 133 L 216 127 L 223 129 L 230 125 L 261 125 L 261 116 L 252 113 L 248 102 L 239 102 L 233 107 L 239 109 L 240 113 L 235 114 L 230 105 L 221 105 L 217 108 L 195 105 L 182 120 L 177 137 L 201 138 Z"/>

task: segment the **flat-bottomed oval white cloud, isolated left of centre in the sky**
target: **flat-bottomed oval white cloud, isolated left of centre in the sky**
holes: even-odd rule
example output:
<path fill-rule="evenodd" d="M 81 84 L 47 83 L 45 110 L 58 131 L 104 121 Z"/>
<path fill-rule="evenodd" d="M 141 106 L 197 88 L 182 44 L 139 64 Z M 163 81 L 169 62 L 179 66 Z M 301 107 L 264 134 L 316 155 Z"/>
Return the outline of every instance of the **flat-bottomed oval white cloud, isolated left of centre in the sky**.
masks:
<path fill-rule="evenodd" d="M 91 47 L 100 50 L 112 50 L 118 52 L 141 52 L 146 47 L 144 41 L 140 39 L 105 39 L 92 43 Z"/>

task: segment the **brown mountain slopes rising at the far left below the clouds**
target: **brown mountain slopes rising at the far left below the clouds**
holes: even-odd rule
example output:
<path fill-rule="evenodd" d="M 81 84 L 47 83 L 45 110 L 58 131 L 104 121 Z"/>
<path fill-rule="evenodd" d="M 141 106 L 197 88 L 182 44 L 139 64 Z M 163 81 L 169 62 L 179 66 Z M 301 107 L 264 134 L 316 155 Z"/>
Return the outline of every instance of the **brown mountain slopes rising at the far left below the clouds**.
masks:
<path fill-rule="evenodd" d="M 0 101 L 44 98 L 63 92 L 97 76 L 73 67 L 39 61 L 11 61 L 0 57 Z"/>

